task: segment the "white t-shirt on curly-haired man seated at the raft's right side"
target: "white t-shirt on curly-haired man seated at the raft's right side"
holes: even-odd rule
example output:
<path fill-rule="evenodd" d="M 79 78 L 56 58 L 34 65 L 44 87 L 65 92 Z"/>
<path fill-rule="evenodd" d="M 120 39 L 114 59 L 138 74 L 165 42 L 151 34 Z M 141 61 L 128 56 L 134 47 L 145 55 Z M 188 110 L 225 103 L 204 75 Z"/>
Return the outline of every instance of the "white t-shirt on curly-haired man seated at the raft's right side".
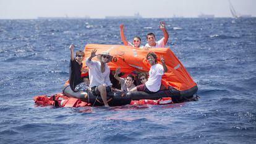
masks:
<path fill-rule="evenodd" d="M 163 66 L 161 64 L 155 64 L 151 66 L 148 74 L 149 74 L 148 81 L 145 83 L 148 90 L 152 92 L 156 92 L 160 90 L 161 80 L 164 74 Z"/>

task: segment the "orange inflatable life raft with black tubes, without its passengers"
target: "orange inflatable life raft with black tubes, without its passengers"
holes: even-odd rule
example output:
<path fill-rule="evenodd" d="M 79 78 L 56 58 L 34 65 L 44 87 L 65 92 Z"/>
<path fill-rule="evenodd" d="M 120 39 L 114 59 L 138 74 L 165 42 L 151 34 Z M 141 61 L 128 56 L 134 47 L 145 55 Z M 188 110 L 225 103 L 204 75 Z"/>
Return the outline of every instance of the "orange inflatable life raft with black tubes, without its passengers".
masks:
<path fill-rule="evenodd" d="M 164 73 L 161 82 L 161 84 L 166 87 L 166 90 L 160 90 L 150 94 L 143 91 L 109 92 L 107 95 L 109 106 L 120 106 L 124 104 L 168 104 L 169 100 L 171 100 L 171 103 L 180 103 L 190 101 L 197 92 L 197 84 L 192 80 L 187 70 L 169 48 L 152 48 L 147 51 L 130 46 L 87 44 L 84 49 L 85 59 L 82 61 L 83 68 L 86 67 L 85 60 L 87 57 L 90 57 L 93 49 L 97 49 L 96 54 L 108 51 L 113 56 L 112 61 L 108 63 L 110 70 L 116 70 L 117 67 L 121 67 L 121 72 L 125 74 L 130 74 L 134 71 L 148 72 L 150 64 L 148 64 L 146 56 L 150 51 L 156 53 L 158 57 L 157 62 L 160 64 L 160 56 L 163 55 L 168 69 L 168 72 Z M 93 57 L 93 60 L 98 61 L 96 57 Z M 75 107 L 81 106 L 80 103 L 82 102 L 85 102 L 82 103 L 82 105 L 85 104 L 86 106 L 103 105 L 101 96 L 93 95 L 91 91 L 79 91 L 75 93 L 68 84 L 68 82 L 65 83 L 63 94 L 69 98 L 80 100 L 75 102 L 78 104 L 74 104 Z M 36 100 L 38 104 L 46 103 L 45 101 L 47 101 L 47 99 L 52 100 L 51 97 L 37 96 L 35 97 L 35 103 Z M 53 101 L 48 101 L 48 103 L 54 105 Z M 58 103 L 60 102 L 58 101 Z M 70 105 L 72 104 L 69 104 L 69 106 Z M 60 104 L 60 106 L 62 106 L 62 104 Z"/>

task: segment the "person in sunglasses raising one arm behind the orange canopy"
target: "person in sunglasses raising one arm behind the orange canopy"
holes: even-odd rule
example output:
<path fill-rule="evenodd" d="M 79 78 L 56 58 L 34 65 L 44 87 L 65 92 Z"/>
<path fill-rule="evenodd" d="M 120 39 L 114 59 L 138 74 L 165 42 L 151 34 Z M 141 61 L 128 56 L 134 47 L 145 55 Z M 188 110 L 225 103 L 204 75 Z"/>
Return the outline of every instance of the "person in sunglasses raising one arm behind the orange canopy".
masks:
<path fill-rule="evenodd" d="M 120 25 L 120 35 L 121 40 L 125 46 L 133 46 L 134 48 L 144 48 L 144 46 L 140 45 L 142 43 L 142 39 L 139 36 L 134 36 L 134 40 L 132 43 L 126 40 L 126 36 L 124 36 L 124 24 Z"/>

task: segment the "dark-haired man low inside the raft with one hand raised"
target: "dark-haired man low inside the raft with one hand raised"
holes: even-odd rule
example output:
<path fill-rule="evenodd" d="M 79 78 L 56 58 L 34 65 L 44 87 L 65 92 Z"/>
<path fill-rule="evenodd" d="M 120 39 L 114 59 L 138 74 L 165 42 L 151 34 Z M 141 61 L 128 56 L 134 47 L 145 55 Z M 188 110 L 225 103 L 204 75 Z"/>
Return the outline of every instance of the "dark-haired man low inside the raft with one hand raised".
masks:
<path fill-rule="evenodd" d="M 121 83 L 121 91 L 130 91 L 135 87 L 134 85 L 134 76 L 132 74 L 127 75 L 126 78 L 118 77 L 121 73 L 120 67 L 117 67 L 116 74 L 114 74 L 114 78 L 116 78 Z"/>

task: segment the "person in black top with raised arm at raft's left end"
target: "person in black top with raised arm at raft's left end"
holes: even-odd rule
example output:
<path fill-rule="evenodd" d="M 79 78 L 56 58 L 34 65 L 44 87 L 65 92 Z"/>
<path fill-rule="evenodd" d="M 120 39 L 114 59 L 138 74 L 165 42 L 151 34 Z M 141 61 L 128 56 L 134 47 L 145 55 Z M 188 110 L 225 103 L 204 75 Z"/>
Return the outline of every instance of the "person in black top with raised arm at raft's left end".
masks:
<path fill-rule="evenodd" d="M 88 72 L 87 69 L 82 69 L 82 60 L 85 56 L 83 51 L 79 50 L 75 52 L 74 57 L 74 44 L 69 46 L 70 49 L 70 65 L 69 65 L 69 85 L 72 91 L 85 91 L 88 89 L 88 85 L 83 83 L 81 73 Z"/>

